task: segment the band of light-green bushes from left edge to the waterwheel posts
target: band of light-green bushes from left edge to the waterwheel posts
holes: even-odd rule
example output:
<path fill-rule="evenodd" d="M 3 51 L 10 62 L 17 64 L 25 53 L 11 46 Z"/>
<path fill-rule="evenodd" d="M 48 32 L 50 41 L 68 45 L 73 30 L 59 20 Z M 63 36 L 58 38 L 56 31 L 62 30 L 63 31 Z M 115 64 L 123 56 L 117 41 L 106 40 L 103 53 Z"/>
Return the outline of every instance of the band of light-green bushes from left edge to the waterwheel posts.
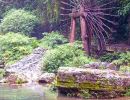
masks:
<path fill-rule="evenodd" d="M 71 46 L 67 43 L 67 39 L 58 32 L 46 33 L 41 40 L 10 32 L 1 35 L 0 42 L 0 58 L 6 64 L 15 63 L 38 46 L 49 49 L 43 59 L 43 69 L 48 72 L 56 72 L 61 66 L 78 67 L 92 61 L 91 58 L 85 56 L 80 42 Z"/>

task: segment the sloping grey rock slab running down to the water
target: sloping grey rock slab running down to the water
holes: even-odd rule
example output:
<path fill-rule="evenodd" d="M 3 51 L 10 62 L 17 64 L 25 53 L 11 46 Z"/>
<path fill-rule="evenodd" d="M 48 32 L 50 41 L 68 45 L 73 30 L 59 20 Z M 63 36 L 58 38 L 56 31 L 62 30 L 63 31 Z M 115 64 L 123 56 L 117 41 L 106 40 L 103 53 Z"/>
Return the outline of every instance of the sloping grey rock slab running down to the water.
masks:
<path fill-rule="evenodd" d="M 6 72 L 27 77 L 28 81 L 36 81 L 42 74 L 42 57 L 47 49 L 38 47 L 20 61 L 6 68 Z"/>

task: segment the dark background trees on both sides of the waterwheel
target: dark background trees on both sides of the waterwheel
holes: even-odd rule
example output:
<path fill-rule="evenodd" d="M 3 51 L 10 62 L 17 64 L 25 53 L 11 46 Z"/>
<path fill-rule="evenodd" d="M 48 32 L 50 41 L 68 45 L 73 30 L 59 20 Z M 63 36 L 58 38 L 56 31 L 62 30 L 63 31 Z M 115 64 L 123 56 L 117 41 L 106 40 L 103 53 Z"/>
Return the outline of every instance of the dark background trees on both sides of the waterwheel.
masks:
<path fill-rule="evenodd" d="M 5 1 L 5 0 L 2 0 Z M 106 2 L 110 0 L 100 0 L 101 2 Z M 59 29 L 58 23 L 60 20 L 59 17 L 59 2 L 58 0 L 7 0 L 3 3 L 0 2 L 0 18 L 4 17 L 5 12 L 10 11 L 10 9 L 24 9 L 26 11 L 33 12 L 40 23 L 38 28 L 35 29 L 35 32 L 43 33 L 43 31 L 52 31 L 53 29 Z M 117 32 L 114 33 L 115 39 L 118 37 L 120 40 L 128 39 L 128 16 L 130 11 L 130 1 L 129 0 L 118 0 L 117 5 L 119 6 L 119 14 L 121 15 L 119 18 L 119 26 L 117 27 Z M 45 28 L 46 27 L 46 28 Z M 34 32 L 34 33 L 35 33 Z M 125 32 L 125 33 L 124 33 Z M 37 33 L 38 35 L 38 33 Z M 125 39 L 124 39 L 125 38 Z"/>

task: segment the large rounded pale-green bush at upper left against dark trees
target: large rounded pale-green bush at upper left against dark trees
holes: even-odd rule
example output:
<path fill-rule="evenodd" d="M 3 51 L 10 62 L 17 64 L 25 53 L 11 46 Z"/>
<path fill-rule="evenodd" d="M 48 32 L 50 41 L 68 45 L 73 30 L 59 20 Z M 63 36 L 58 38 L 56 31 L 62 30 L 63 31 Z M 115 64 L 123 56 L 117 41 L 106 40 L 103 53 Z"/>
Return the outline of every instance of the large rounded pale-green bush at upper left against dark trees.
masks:
<path fill-rule="evenodd" d="M 37 17 L 30 12 L 13 9 L 5 14 L 0 24 L 0 30 L 2 33 L 20 32 L 30 35 L 37 23 Z"/>

